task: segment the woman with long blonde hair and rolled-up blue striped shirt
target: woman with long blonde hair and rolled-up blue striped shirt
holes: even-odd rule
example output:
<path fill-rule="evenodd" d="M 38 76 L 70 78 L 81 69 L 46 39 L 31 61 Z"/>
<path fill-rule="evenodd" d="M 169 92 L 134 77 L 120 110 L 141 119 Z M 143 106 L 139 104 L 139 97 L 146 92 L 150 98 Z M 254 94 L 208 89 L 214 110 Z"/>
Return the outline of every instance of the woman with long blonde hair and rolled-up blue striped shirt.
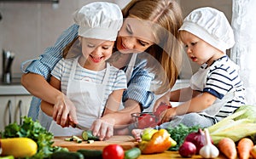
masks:
<path fill-rule="evenodd" d="M 127 90 L 122 99 L 125 108 L 94 122 L 93 133 L 100 139 L 111 137 L 113 128 L 127 127 L 132 121 L 131 113 L 148 108 L 154 100 L 154 93 L 162 94 L 172 88 L 181 60 L 177 30 L 182 25 L 183 16 L 175 0 L 131 0 L 122 12 L 125 21 L 115 44 L 117 52 L 111 59 L 112 64 L 123 69 L 127 77 Z M 46 128 L 49 120 L 42 113 L 38 116 L 40 99 L 55 105 L 53 118 L 61 126 L 65 126 L 68 115 L 77 122 L 73 106 L 65 105 L 65 96 L 52 88 L 48 80 L 50 71 L 61 60 L 64 47 L 78 37 L 78 28 L 73 25 L 64 31 L 53 47 L 47 48 L 37 60 L 32 60 L 21 79 L 22 85 L 38 97 L 32 99 L 28 116 L 34 120 L 39 118 Z M 155 66 L 155 60 L 163 71 Z M 160 87 L 153 93 L 150 87 L 154 78 L 158 79 Z M 57 118 L 60 112 L 62 116 Z"/>

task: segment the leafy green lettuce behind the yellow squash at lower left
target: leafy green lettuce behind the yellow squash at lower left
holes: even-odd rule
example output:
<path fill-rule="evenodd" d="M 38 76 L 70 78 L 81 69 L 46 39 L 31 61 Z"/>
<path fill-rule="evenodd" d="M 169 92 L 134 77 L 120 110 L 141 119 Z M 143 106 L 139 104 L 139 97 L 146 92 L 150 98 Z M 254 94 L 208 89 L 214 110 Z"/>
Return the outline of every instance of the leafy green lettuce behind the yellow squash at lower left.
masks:
<path fill-rule="evenodd" d="M 26 137 L 33 139 L 38 144 L 38 152 L 32 158 L 47 158 L 53 152 L 58 150 L 66 150 L 61 147 L 52 146 L 54 138 L 52 133 L 49 133 L 41 124 L 37 121 L 32 121 L 31 117 L 22 117 L 23 123 L 18 125 L 16 122 L 11 123 L 5 127 L 1 132 L 2 138 L 15 138 Z"/>

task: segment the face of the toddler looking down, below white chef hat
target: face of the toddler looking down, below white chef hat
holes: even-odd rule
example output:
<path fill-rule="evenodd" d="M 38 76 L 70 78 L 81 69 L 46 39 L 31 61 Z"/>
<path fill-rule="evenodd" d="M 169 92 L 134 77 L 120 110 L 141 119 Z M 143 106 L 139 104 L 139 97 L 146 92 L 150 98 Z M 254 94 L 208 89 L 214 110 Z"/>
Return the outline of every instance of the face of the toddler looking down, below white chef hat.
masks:
<path fill-rule="evenodd" d="M 189 31 L 181 31 L 181 37 L 189 58 L 198 65 L 211 65 L 224 54 Z"/>

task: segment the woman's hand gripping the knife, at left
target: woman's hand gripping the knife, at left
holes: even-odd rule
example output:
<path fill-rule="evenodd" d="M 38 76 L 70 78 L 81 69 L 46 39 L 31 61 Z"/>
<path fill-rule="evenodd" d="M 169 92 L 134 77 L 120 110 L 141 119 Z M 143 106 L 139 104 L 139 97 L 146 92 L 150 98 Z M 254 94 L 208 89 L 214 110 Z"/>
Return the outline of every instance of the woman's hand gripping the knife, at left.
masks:
<path fill-rule="evenodd" d="M 67 96 L 62 94 L 57 98 L 57 102 L 54 105 L 54 111 L 52 114 L 53 119 L 61 127 L 68 127 L 69 122 L 75 124 L 78 123 L 76 115 L 76 107 L 73 105 L 70 99 L 67 99 Z"/>

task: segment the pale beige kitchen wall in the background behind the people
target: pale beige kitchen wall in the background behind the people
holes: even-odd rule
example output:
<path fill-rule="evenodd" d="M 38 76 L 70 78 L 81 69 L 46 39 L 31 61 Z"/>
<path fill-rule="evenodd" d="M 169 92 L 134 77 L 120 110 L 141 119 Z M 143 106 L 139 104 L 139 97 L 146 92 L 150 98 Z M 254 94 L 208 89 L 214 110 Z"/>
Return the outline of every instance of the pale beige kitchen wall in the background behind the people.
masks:
<path fill-rule="evenodd" d="M 85 3 L 96 0 L 60 0 L 58 8 L 51 3 L 0 2 L 0 75 L 2 75 L 2 49 L 15 52 L 13 77 L 20 77 L 20 63 L 37 58 L 44 49 L 53 45 L 61 32 L 73 24 L 73 11 Z M 122 8 L 130 0 L 101 0 L 117 3 Z M 231 20 L 232 0 L 179 0 L 184 15 L 192 9 L 211 6 L 224 11 Z M 192 65 L 197 70 L 197 65 Z"/>

